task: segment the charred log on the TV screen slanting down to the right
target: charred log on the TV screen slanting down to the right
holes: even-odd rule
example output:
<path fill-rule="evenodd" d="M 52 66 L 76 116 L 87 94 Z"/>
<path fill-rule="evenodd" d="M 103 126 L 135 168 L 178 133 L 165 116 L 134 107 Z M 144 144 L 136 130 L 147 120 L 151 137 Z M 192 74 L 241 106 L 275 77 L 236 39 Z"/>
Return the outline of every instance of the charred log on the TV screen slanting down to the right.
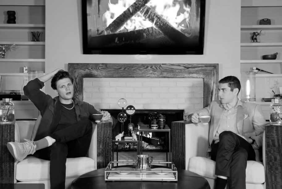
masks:
<path fill-rule="evenodd" d="M 192 40 L 175 29 L 169 22 L 163 19 L 149 6 L 144 6 L 144 8 L 141 9 L 140 13 L 151 23 L 153 23 L 155 27 L 162 31 L 162 33 L 167 38 L 174 41 L 176 44 L 191 45 Z"/>

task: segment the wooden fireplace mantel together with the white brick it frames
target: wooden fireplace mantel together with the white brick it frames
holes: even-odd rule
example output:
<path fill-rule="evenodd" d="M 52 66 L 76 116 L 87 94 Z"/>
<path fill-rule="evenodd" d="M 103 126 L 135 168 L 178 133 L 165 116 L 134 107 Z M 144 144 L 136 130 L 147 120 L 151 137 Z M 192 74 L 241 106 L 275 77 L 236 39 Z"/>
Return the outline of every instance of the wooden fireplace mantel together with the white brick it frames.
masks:
<path fill-rule="evenodd" d="M 218 64 L 69 63 L 74 97 L 97 109 L 199 109 L 217 99 Z"/>

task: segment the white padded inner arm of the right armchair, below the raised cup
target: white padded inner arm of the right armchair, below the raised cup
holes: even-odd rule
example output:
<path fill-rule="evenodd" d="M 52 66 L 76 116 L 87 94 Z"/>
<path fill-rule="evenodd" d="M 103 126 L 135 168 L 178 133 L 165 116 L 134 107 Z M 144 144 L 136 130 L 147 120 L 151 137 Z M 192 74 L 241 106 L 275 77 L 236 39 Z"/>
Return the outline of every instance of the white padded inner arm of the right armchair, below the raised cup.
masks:
<path fill-rule="evenodd" d="M 191 157 L 207 157 L 209 124 L 186 124 L 185 125 L 185 162 L 186 170 Z"/>

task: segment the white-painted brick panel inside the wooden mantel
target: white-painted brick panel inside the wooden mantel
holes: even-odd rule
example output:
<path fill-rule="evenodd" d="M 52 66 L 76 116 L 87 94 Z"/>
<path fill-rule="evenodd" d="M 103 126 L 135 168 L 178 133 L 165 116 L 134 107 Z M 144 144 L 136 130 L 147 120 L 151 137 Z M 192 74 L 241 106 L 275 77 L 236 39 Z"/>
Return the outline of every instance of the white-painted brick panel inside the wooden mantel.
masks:
<path fill-rule="evenodd" d="M 136 109 L 203 108 L 202 78 L 84 78 L 83 101 L 119 109 L 120 98 Z"/>

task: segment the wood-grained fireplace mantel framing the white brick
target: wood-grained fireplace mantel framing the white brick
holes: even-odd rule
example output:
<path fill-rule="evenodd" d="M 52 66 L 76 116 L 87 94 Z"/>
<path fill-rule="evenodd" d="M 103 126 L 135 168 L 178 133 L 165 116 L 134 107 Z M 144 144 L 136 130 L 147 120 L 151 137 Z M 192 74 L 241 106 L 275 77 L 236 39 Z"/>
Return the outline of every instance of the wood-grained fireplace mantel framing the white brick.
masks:
<path fill-rule="evenodd" d="M 83 78 L 203 78 L 204 107 L 217 99 L 218 64 L 69 63 L 74 97 L 83 100 Z"/>

